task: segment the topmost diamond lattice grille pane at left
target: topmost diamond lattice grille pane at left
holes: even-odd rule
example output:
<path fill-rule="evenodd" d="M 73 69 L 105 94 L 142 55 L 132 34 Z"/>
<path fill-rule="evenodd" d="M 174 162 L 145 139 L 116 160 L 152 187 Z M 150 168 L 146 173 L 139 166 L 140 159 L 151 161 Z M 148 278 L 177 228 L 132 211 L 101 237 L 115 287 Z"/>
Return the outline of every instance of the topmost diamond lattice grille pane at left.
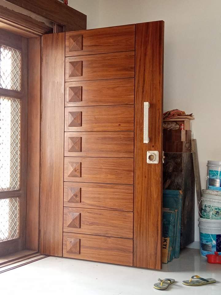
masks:
<path fill-rule="evenodd" d="M 21 90 L 21 51 L 5 45 L 0 50 L 0 87 Z"/>

